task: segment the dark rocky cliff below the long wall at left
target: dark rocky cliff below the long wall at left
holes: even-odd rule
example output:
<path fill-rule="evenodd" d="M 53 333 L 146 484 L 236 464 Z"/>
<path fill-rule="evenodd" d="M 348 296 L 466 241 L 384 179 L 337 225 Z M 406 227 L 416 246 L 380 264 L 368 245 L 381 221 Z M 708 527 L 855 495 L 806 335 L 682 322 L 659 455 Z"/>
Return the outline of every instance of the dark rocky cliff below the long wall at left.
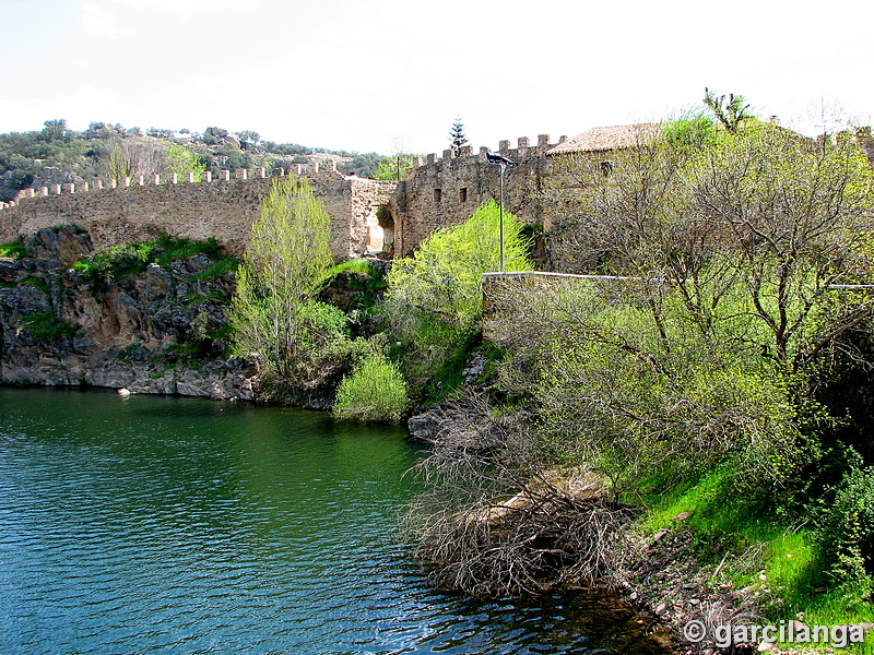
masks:
<path fill-rule="evenodd" d="M 72 226 L 40 229 L 24 259 L 0 259 L 0 379 L 251 400 L 253 369 L 229 357 L 234 274 L 205 254 L 95 278 L 70 266 L 92 252 Z"/>

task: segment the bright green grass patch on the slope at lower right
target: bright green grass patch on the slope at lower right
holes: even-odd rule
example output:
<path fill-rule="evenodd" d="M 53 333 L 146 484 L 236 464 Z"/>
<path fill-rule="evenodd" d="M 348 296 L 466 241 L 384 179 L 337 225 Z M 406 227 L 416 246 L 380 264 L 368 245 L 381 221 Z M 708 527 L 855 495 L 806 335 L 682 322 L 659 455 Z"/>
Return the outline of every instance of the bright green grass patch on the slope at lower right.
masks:
<path fill-rule="evenodd" d="M 639 524 L 641 532 L 675 528 L 680 523 L 674 517 L 688 512 L 682 524 L 693 531 L 701 561 L 718 572 L 711 582 L 769 588 L 781 600 L 771 606 L 769 620 L 788 621 L 802 614 L 807 626 L 874 622 L 870 602 L 850 598 L 830 585 L 810 522 L 792 524 L 769 507 L 767 498 L 739 493 L 733 467 L 722 466 L 661 496 L 651 493 L 646 501 L 649 509 Z M 712 544 L 720 545 L 716 552 L 709 549 Z M 759 579 L 761 571 L 765 581 Z M 843 652 L 874 654 L 874 634 Z"/>

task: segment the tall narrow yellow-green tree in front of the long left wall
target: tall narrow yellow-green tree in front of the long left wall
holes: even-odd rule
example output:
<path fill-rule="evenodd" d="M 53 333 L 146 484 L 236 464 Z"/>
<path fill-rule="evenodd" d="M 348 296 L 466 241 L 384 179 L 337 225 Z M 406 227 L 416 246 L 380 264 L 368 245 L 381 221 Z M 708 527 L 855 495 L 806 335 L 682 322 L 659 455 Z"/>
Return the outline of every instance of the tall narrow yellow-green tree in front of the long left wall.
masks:
<path fill-rule="evenodd" d="M 267 385 L 307 388 L 344 340 L 342 312 L 315 299 L 332 264 L 329 240 L 330 217 L 309 182 L 274 180 L 237 272 L 231 319 L 237 350 Z"/>

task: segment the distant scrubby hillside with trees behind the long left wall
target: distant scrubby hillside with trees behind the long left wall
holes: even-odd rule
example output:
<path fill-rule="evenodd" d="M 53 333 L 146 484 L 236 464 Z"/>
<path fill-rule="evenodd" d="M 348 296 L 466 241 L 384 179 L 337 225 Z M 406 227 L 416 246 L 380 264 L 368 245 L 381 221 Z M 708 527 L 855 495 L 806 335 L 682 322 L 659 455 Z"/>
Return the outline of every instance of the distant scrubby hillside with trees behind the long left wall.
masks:
<path fill-rule="evenodd" d="M 116 123 L 93 122 L 82 132 L 64 120 L 48 120 L 33 132 L 0 134 L 0 201 L 20 189 L 93 179 L 153 176 L 174 172 L 199 175 L 211 170 L 291 167 L 310 160 L 334 159 L 346 175 L 379 177 L 393 169 L 393 157 L 377 153 L 349 153 L 307 147 L 297 143 L 262 141 L 249 130 L 232 133 L 206 128 L 189 130 L 125 129 Z M 380 164 L 382 165 L 380 168 Z"/>

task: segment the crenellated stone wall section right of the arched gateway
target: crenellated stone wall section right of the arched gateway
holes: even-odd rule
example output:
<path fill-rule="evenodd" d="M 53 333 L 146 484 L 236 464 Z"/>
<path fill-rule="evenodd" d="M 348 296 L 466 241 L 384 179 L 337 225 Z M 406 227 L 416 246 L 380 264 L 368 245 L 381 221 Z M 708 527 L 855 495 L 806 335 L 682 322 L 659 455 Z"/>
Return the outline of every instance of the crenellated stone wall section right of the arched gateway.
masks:
<path fill-rule="evenodd" d="M 558 143 L 563 141 L 565 136 Z M 515 148 L 509 141 L 498 146 L 497 153 L 513 162 L 504 174 L 504 204 L 522 223 L 543 221 L 541 191 L 552 169 L 546 153 L 555 145 L 548 134 L 541 134 L 536 143 L 520 136 Z M 474 153 L 465 146 L 458 154 L 447 150 L 442 157 L 434 154 L 416 160 L 399 189 L 399 204 L 406 215 L 399 252 L 410 254 L 435 229 L 463 223 L 481 203 L 489 199 L 498 202 L 500 166 L 488 163 L 489 152 L 481 147 Z"/>

